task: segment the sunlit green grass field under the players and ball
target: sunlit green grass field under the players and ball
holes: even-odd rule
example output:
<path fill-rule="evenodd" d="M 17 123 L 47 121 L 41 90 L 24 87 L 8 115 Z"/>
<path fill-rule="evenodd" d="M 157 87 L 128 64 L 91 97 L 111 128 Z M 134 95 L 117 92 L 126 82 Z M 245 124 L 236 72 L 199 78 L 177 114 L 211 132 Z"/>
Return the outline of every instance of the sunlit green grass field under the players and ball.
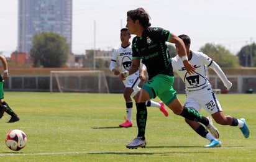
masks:
<path fill-rule="evenodd" d="M 185 95 L 179 94 L 181 102 Z M 124 122 L 122 94 L 78 94 L 49 92 L 5 92 L 6 102 L 21 120 L 0 120 L 0 161 L 255 161 L 255 94 L 217 94 L 224 114 L 244 117 L 250 128 L 245 139 L 238 127 L 216 125 L 221 148 L 204 148 L 184 119 L 169 110 L 165 117 L 149 107 L 147 147 L 129 150 L 126 144 L 137 135 L 134 127 L 119 128 Z M 155 99 L 155 101 L 159 101 Z M 209 115 L 204 110 L 203 115 Z M 21 129 L 27 145 L 12 151 L 5 145 L 6 133 Z"/>

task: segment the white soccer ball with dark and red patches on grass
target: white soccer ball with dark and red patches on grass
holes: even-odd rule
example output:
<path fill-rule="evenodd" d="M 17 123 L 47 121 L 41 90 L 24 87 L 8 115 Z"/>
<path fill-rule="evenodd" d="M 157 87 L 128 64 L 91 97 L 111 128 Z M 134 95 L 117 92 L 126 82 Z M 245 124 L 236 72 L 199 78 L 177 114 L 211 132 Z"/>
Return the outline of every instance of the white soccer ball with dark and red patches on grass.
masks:
<path fill-rule="evenodd" d="M 6 135 L 6 146 L 14 151 L 19 151 L 25 147 L 27 136 L 22 130 L 10 130 Z"/>

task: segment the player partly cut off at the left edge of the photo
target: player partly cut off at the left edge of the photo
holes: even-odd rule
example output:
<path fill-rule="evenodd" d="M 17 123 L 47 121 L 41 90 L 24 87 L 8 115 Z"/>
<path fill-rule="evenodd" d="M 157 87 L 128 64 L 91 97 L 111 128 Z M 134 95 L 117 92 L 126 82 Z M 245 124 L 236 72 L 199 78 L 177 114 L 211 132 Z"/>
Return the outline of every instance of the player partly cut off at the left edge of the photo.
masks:
<path fill-rule="evenodd" d="M 6 112 L 7 114 L 11 115 L 11 119 L 8 121 L 8 123 L 13 123 L 19 121 L 19 117 L 14 113 L 11 107 L 9 107 L 6 101 L 4 101 L 4 79 L 7 79 L 9 74 L 6 58 L 3 55 L 0 55 L 0 60 L 2 61 L 2 66 L 4 66 L 3 76 L 0 74 L 0 119 L 2 118 L 2 115 L 4 115 L 4 112 Z"/>

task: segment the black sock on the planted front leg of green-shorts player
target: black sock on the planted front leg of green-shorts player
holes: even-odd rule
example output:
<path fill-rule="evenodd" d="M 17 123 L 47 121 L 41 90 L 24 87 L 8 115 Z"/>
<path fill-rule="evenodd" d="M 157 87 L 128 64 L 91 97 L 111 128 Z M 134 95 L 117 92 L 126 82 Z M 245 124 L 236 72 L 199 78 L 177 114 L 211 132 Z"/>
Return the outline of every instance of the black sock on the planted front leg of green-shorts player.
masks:
<path fill-rule="evenodd" d="M 138 136 L 142 137 L 142 140 L 145 139 L 145 129 L 147 123 L 147 107 L 145 102 L 136 103 L 137 114 L 136 114 L 136 121 L 138 127 Z"/>

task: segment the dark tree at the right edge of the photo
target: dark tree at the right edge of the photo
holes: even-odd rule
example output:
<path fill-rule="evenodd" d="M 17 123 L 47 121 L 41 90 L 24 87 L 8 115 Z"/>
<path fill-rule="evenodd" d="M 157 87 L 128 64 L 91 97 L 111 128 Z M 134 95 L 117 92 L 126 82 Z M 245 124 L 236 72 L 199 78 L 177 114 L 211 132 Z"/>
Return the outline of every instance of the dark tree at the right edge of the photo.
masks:
<path fill-rule="evenodd" d="M 256 44 L 245 45 L 237 54 L 239 64 L 244 67 L 256 66 Z"/>

